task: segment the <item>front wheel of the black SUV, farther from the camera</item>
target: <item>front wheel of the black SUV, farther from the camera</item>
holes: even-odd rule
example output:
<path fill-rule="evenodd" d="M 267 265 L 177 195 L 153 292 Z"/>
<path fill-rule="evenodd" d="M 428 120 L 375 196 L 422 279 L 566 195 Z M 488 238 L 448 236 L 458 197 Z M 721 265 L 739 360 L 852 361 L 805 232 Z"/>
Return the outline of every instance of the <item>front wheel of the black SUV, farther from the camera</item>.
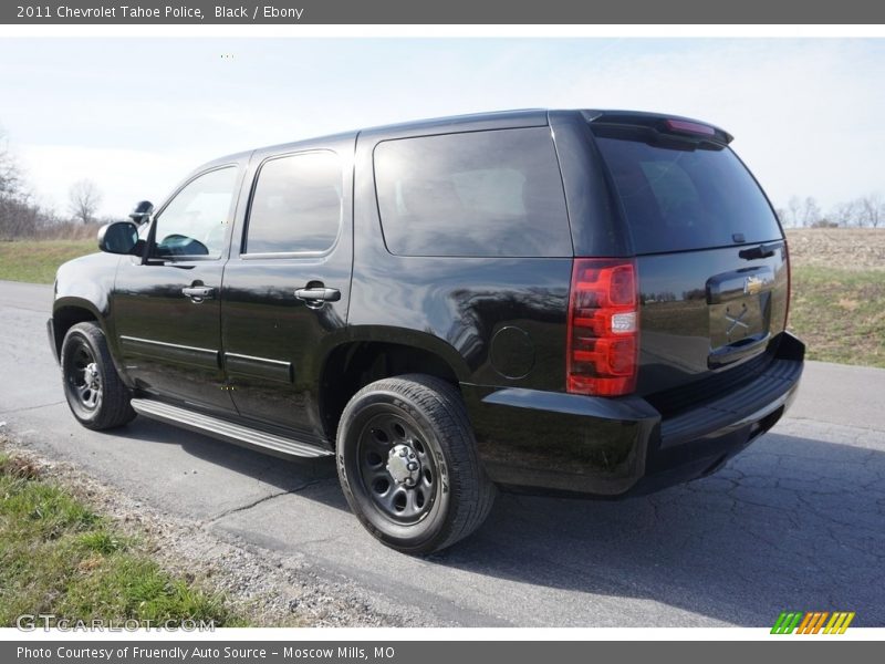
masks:
<path fill-rule="evenodd" d="M 86 428 L 110 429 L 131 422 L 132 394 L 117 374 L 102 329 L 77 323 L 64 335 L 61 353 L 64 396 L 77 422 Z"/>

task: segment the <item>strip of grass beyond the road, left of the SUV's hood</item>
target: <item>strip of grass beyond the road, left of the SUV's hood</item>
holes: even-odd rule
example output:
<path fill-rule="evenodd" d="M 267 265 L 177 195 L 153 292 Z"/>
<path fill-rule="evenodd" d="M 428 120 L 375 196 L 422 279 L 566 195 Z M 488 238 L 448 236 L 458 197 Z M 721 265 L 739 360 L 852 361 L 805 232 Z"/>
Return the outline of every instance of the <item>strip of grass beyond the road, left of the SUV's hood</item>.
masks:
<path fill-rule="evenodd" d="M 60 264 L 97 250 L 95 239 L 0 242 L 0 279 L 52 283 Z"/>

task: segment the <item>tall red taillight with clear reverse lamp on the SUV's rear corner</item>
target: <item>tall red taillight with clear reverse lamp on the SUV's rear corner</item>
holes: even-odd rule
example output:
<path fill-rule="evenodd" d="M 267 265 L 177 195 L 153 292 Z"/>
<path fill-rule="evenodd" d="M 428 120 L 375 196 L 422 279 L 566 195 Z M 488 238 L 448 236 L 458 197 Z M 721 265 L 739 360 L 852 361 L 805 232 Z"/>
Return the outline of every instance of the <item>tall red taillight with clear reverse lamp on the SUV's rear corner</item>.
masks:
<path fill-rule="evenodd" d="M 618 396 L 636 388 L 638 319 L 634 261 L 574 259 L 565 361 L 569 392 Z"/>

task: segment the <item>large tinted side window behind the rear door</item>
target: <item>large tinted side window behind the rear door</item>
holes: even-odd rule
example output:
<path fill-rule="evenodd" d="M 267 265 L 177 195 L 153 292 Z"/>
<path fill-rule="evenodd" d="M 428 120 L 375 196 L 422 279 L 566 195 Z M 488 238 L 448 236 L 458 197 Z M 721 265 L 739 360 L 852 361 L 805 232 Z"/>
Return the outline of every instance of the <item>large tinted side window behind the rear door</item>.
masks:
<path fill-rule="evenodd" d="M 384 240 L 400 256 L 572 255 L 550 129 L 386 141 L 375 147 Z"/>

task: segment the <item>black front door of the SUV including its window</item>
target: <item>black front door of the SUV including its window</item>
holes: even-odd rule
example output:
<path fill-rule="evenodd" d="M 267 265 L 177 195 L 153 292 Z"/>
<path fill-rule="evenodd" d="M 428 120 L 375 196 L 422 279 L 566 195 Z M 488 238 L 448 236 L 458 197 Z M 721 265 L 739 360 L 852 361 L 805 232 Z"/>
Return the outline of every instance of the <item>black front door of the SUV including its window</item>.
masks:
<path fill-rule="evenodd" d="M 112 311 L 128 376 L 155 396 L 232 412 L 221 367 L 220 294 L 237 165 L 191 178 L 153 220 L 147 260 L 121 261 Z"/>

